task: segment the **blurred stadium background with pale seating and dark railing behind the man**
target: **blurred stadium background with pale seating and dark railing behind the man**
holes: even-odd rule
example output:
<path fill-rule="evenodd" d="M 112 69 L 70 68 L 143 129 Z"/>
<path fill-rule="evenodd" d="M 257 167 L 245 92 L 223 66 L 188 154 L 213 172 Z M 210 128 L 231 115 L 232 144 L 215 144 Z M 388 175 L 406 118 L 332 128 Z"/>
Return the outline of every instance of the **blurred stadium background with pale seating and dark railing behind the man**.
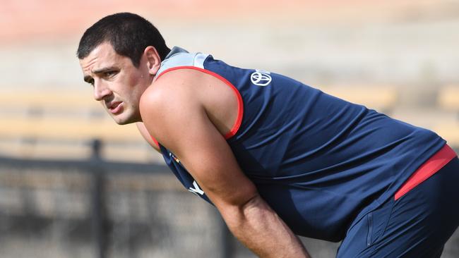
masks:
<path fill-rule="evenodd" d="M 289 75 L 459 149 L 458 0 L 0 0 L 0 257 L 254 257 L 93 101 L 78 40 L 121 11 L 169 47 Z M 458 234 L 442 257 L 459 257 Z M 338 243 L 302 240 L 335 257 Z"/>

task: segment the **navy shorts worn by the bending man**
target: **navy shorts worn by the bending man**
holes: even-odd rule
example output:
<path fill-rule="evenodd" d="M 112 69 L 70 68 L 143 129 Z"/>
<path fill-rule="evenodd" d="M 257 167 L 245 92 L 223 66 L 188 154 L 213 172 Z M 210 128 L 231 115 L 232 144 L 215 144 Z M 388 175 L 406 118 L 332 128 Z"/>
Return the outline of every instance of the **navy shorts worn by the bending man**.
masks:
<path fill-rule="evenodd" d="M 440 257 L 459 225 L 459 159 L 352 223 L 339 258 Z"/>

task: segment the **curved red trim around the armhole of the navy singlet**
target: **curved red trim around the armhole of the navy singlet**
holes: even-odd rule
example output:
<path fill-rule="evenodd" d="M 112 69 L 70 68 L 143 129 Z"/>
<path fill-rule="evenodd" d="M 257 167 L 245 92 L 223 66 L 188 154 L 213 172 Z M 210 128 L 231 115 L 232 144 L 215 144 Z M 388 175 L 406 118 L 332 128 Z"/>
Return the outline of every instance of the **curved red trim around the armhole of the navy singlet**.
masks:
<path fill-rule="evenodd" d="M 201 71 L 203 73 L 207 73 L 207 74 L 212 75 L 213 77 L 215 77 L 217 79 L 222 80 L 222 82 L 225 82 L 226 85 L 231 87 L 231 89 L 233 90 L 234 94 L 237 97 L 237 118 L 236 118 L 236 121 L 234 121 L 234 125 L 231 128 L 231 130 L 229 130 L 229 132 L 225 135 L 225 139 L 228 140 L 229 138 L 231 138 L 234 135 L 236 135 L 237 130 L 239 130 L 239 127 L 241 126 L 241 123 L 242 123 L 242 115 L 244 114 L 244 103 L 242 102 L 242 97 L 241 97 L 241 93 L 239 93 L 239 90 L 237 90 L 237 88 L 234 87 L 234 85 L 232 85 L 231 82 L 229 82 L 227 79 L 223 78 L 221 75 L 219 75 L 217 73 L 214 73 L 213 71 L 205 70 L 203 68 L 199 68 L 199 67 L 196 67 L 196 66 L 177 66 L 177 67 L 166 69 L 160 75 L 158 75 L 157 78 L 155 78 L 155 80 L 159 79 L 163 74 L 165 74 L 167 72 L 170 72 L 172 70 L 179 70 L 179 69 L 199 70 L 199 71 Z"/>

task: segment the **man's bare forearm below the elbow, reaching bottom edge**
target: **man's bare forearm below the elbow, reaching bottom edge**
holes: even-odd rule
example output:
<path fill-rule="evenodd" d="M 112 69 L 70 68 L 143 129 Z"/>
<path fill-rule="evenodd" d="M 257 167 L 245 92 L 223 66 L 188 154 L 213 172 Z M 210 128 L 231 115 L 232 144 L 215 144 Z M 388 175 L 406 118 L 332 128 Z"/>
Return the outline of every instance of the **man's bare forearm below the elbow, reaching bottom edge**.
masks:
<path fill-rule="evenodd" d="M 306 257 L 290 228 L 258 195 L 244 207 L 220 211 L 229 230 L 259 257 Z"/>

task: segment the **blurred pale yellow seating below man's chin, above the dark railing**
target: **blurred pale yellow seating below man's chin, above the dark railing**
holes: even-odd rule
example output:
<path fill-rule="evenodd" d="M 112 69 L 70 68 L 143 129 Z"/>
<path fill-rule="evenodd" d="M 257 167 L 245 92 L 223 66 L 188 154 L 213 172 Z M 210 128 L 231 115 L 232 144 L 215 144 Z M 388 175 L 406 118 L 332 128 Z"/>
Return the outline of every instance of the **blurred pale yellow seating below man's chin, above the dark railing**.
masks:
<path fill-rule="evenodd" d="M 18 97 L 20 96 L 20 97 Z M 109 160 L 155 160 L 135 125 L 117 126 L 100 104 L 81 92 L 0 92 L 0 153 L 29 159 L 86 159 L 88 143 L 102 140 Z"/>

